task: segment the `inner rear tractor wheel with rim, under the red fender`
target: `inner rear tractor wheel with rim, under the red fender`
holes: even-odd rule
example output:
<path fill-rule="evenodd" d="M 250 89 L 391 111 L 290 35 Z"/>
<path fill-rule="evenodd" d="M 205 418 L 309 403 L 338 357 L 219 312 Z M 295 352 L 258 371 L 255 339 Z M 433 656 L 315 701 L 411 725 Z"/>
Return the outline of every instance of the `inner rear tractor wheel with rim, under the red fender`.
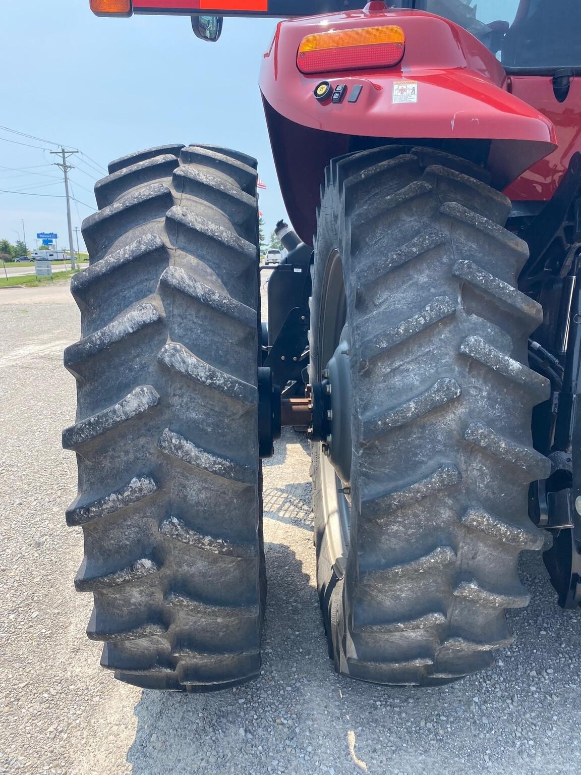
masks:
<path fill-rule="evenodd" d="M 528 604 L 517 557 L 543 543 L 528 487 L 550 472 L 531 444 L 548 381 L 527 366 L 542 312 L 516 288 L 528 249 L 486 181 L 395 146 L 327 171 L 311 299 L 311 382 L 328 381 L 333 426 L 312 449 L 318 590 L 335 667 L 359 680 L 481 670 L 511 642 L 505 609 Z"/>

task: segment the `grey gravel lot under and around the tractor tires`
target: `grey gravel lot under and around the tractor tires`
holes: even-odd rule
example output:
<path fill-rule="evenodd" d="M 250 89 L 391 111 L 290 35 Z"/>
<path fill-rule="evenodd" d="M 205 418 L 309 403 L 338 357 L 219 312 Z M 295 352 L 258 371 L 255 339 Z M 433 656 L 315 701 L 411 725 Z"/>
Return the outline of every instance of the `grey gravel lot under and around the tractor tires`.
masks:
<path fill-rule="evenodd" d="M 62 350 L 79 316 L 62 284 L 0 291 L 0 772 L 102 775 L 543 773 L 581 768 L 579 618 L 562 611 L 540 556 L 511 612 L 517 640 L 496 667 L 439 689 L 337 676 L 315 587 L 308 447 L 285 432 L 264 468 L 269 581 L 260 680 L 224 694 L 156 694 L 98 668 L 74 592 L 80 529 L 74 420 Z"/>

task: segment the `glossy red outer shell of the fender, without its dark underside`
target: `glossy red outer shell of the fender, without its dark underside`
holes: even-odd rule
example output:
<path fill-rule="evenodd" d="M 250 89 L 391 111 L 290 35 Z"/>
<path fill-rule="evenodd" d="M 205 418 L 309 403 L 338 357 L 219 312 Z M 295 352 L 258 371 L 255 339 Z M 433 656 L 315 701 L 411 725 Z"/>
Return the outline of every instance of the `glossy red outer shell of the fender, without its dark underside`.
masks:
<path fill-rule="evenodd" d="M 405 33 L 396 67 L 303 74 L 297 51 L 306 35 L 395 24 Z M 321 81 L 362 86 L 356 102 L 318 102 Z M 260 74 L 263 98 L 278 114 L 329 133 L 397 139 L 491 140 L 489 168 L 504 188 L 556 145 L 552 123 L 510 93 L 502 65 L 479 40 L 447 19 L 385 9 L 279 22 Z M 273 138 L 273 142 L 276 140 Z"/>

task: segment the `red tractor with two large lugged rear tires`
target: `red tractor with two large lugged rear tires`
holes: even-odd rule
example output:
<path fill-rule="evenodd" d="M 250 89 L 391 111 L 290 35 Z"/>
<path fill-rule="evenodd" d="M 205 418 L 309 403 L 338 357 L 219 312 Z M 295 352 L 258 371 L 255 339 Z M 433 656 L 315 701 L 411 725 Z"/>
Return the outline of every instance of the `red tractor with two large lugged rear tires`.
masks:
<path fill-rule="evenodd" d="M 511 642 L 523 549 L 581 601 L 581 4 L 212 2 L 91 7 L 294 17 L 260 76 L 294 231 L 261 326 L 256 160 L 166 145 L 96 185 L 65 353 L 88 636 L 140 687 L 256 676 L 260 460 L 303 426 L 336 670 L 445 684 Z"/>

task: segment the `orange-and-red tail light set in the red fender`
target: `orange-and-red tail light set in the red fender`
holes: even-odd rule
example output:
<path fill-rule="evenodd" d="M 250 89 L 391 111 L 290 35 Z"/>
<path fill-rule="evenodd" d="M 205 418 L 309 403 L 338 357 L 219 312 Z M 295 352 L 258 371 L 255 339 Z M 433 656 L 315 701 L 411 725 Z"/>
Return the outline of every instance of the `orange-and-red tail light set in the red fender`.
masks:
<path fill-rule="evenodd" d="M 405 35 L 395 25 L 329 30 L 301 40 L 297 67 L 301 73 L 393 67 L 404 56 Z"/>

